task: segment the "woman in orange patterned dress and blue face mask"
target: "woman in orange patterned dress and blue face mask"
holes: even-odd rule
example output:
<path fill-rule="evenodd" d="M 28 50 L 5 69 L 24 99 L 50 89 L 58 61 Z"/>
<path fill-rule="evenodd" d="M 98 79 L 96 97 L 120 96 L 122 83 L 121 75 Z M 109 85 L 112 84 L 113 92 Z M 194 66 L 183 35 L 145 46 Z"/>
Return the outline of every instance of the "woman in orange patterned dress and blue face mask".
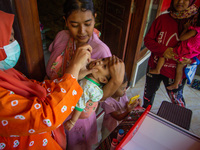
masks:
<path fill-rule="evenodd" d="M 0 149 L 62 150 L 51 131 L 72 112 L 82 89 L 76 79 L 92 48 L 76 50 L 62 78 L 40 83 L 13 67 L 20 56 L 14 39 L 13 14 L 0 11 Z"/>

